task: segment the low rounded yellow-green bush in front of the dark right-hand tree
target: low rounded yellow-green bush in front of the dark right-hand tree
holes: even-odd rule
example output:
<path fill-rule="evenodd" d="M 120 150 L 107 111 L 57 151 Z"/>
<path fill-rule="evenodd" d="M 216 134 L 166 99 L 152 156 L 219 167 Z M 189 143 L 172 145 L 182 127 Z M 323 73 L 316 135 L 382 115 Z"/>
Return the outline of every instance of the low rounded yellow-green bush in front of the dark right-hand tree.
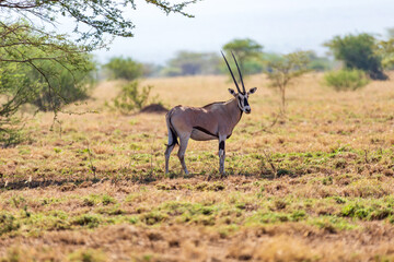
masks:
<path fill-rule="evenodd" d="M 327 72 L 324 80 L 336 91 L 355 91 L 369 83 L 366 73 L 357 69 Z"/>

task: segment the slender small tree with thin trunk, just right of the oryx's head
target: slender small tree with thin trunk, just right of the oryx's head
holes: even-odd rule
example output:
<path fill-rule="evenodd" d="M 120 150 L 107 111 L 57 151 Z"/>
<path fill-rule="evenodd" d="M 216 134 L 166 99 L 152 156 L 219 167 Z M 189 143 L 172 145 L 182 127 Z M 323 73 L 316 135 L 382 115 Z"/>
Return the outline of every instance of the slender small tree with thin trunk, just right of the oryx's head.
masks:
<path fill-rule="evenodd" d="M 285 55 L 281 59 L 269 62 L 267 71 L 270 85 L 279 90 L 280 116 L 286 116 L 286 90 L 291 81 L 309 71 L 310 52 L 297 51 Z"/>

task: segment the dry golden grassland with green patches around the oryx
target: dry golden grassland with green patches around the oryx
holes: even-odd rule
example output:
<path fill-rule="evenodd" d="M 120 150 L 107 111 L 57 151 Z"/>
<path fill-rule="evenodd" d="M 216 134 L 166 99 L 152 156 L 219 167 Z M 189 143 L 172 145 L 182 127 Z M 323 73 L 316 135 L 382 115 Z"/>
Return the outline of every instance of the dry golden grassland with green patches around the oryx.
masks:
<path fill-rule="evenodd" d="M 392 75 L 394 78 L 394 75 Z M 227 142 L 192 141 L 165 176 L 164 115 L 39 114 L 0 151 L 0 261 L 394 261 L 394 81 L 336 93 L 309 74 L 288 120 L 263 75 Z M 167 107 L 229 99 L 223 76 L 147 80 Z M 207 180 L 209 175 L 213 179 Z M 275 178 L 276 176 L 276 178 Z"/>

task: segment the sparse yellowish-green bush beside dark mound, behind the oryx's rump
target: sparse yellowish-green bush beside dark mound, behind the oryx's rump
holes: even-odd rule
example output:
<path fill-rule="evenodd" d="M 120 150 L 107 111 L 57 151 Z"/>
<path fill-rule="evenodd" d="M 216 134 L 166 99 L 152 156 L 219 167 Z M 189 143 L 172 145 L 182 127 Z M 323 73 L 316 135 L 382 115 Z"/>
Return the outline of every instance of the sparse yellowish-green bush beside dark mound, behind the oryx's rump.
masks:
<path fill-rule="evenodd" d="M 123 114 L 129 114 L 135 109 L 141 109 L 148 104 L 152 85 L 143 86 L 140 91 L 138 81 L 132 81 L 121 86 L 120 93 L 114 99 L 114 106 Z"/>

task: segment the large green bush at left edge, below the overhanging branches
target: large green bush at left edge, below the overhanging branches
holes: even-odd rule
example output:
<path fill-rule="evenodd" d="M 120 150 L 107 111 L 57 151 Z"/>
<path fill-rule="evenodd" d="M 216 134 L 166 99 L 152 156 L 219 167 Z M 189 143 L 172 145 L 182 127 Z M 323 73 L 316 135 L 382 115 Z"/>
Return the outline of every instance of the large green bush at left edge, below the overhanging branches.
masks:
<path fill-rule="evenodd" d="M 63 105 L 88 97 L 95 70 L 92 56 L 66 39 L 47 39 L 27 24 L 12 26 L 19 29 L 8 36 L 10 40 L 25 39 L 30 45 L 19 44 L 12 50 L 0 48 L 0 95 L 5 98 L 0 100 L 0 116 L 10 117 L 27 103 L 39 110 L 58 111 Z M 5 34 L 4 28 L 0 33 Z"/>

